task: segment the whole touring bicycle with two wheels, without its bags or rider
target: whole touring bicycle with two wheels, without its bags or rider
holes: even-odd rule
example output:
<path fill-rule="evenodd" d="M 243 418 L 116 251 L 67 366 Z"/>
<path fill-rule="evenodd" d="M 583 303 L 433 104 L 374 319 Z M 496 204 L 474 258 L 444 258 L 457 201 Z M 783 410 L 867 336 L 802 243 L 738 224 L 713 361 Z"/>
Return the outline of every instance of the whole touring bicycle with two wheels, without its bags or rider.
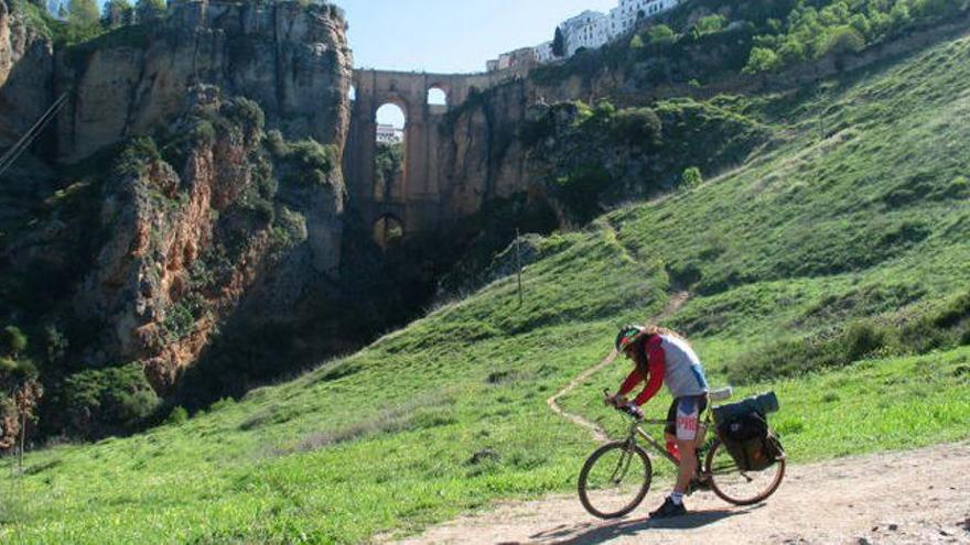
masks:
<path fill-rule="evenodd" d="M 610 392 L 604 390 L 604 394 L 608 395 Z M 731 390 L 723 389 L 708 395 L 709 402 L 724 401 L 731 396 Z M 665 426 L 667 421 L 643 419 L 640 415 L 625 411 L 626 407 L 616 408 L 633 421 L 626 439 L 607 443 L 594 450 L 580 471 L 580 502 L 590 514 L 600 519 L 626 515 L 643 502 L 650 490 L 654 466 L 647 451 L 637 444 L 637 437 L 643 438 L 671 464 L 680 466 L 677 458 L 640 427 L 643 424 Z M 704 442 L 704 435 L 713 422 L 711 413 L 712 411 L 707 411 L 703 423 L 699 424 L 699 444 Z M 751 505 L 775 493 L 785 477 L 784 455 L 761 471 L 745 471 L 737 467 L 718 437 L 709 439 L 703 447 L 698 447 L 697 456 L 699 475 L 692 481 L 688 494 L 697 488 L 710 488 L 729 503 Z M 703 465 L 700 464 L 702 458 Z M 639 460 L 643 465 L 642 472 L 636 470 L 639 466 L 634 460 Z"/>

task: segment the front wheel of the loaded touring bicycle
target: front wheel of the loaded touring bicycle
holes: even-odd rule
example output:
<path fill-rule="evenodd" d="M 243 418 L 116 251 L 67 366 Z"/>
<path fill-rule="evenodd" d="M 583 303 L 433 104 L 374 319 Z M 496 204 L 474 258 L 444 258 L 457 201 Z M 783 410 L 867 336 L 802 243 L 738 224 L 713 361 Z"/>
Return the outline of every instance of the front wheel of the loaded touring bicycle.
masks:
<path fill-rule="evenodd" d="M 644 449 L 627 442 L 608 443 L 580 471 L 580 502 L 593 516 L 616 519 L 644 501 L 653 478 L 654 467 Z"/>

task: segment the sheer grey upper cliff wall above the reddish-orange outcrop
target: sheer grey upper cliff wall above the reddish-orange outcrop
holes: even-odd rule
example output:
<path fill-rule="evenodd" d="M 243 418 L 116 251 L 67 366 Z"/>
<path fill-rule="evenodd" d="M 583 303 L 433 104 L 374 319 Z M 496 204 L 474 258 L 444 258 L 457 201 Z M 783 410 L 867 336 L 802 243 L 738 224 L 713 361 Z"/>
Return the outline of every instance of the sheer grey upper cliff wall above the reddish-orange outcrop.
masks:
<path fill-rule="evenodd" d="M 157 25 L 136 25 L 57 56 L 58 152 L 75 162 L 176 117 L 203 83 L 245 96 L 289 138 L 343 146 L 352 55 L 343 14 L 298 2 L 179 2 Z"/>

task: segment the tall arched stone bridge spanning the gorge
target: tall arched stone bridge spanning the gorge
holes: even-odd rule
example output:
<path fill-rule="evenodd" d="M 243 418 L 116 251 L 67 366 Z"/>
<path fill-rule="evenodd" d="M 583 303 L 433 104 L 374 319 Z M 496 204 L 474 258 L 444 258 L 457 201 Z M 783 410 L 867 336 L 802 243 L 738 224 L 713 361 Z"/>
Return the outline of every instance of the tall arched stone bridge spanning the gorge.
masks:
<path fill-rule="evenodd" d="M 439 227 L 450 179 L 440 164 L 440 128 L 448 112 L 468 98 L 509 78 L 509 74 L 427 74 L 354 70 L 351 129 L 344 173 L 351 206 L 373 226 L 375 238 L 408 238 Z M 445 105 L 429 103 L 440 89 Z M 392 103 L 405 112 L 403 173 L 394 187 L 377 187 L 377 110 Z M 385 240 L 382 240 L 385 239 Z"/>

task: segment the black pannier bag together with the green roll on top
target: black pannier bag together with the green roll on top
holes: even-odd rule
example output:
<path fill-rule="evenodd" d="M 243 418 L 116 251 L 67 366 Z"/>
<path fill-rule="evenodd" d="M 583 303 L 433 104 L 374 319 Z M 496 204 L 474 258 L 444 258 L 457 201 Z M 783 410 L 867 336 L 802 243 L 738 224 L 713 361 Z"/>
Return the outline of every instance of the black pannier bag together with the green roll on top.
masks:
<path fill-rule="evenodd" d="M 765 418 L 765 414 L 777 410 L 774 392 L 714 407 L 718 436 L 740 469 L 761 471 L 785 456 Z"/>

